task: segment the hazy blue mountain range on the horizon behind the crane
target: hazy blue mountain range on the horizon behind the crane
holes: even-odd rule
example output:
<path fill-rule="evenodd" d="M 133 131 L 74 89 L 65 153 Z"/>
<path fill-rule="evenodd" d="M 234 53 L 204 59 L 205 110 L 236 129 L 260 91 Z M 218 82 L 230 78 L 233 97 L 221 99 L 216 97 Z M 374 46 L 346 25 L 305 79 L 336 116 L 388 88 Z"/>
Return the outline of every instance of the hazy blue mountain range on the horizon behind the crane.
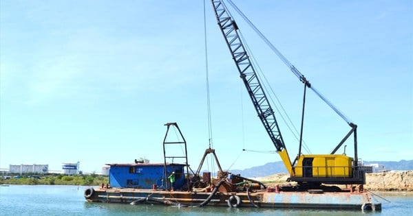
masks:
<path fill-rule="evenodd" d="M 363 161 L 365 165 L 369 165 L 372 163 L 378 163 L 380 165 L 384 165 L 385 169 L 388 170 L 413 170 L 413 160 L 400 160 L 399 162 L 396 161 Z M 266 163 L 262 166 L 251 167 L 248 169 L 231 169 L 231 173 L 234 174 L 241 174 L 244 177 L 262 177 L 262 176 L 270 176 L 274 173 L 288 173 L 286 167 L 284 167 L 284 163 L 282 161 Z"/>

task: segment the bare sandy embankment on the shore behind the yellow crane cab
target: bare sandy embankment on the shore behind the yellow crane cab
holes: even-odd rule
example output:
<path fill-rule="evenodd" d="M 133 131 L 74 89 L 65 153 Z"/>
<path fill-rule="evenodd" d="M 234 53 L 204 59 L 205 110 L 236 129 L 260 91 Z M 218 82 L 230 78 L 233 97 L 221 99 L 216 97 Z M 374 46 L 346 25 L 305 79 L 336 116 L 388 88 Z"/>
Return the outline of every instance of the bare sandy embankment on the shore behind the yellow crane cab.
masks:
<path fill-rule="evenodd" d="M 288 174 L 281 173 L 255 179 L 273 187 L 277 184 L 288 184 L 288 177 Z M 370 191 L 413 191 L 413 171 L 367 173 L 364 188 Z"/>

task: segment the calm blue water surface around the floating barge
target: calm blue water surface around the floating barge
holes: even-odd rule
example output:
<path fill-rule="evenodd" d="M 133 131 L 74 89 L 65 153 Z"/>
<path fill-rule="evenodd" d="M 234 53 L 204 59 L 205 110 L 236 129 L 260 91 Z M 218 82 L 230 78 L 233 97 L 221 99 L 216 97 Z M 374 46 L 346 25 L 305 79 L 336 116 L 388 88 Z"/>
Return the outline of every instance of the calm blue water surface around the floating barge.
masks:
<path fill-rule="evenodd" d="M 381 212 L 316 211 L 273 208 L 178 208 L 160 205 L 85 202 L 87 187 L 10 185 L 0 187 L 0 215 L 413 215 L 412 193 L 380 194 Z"/>

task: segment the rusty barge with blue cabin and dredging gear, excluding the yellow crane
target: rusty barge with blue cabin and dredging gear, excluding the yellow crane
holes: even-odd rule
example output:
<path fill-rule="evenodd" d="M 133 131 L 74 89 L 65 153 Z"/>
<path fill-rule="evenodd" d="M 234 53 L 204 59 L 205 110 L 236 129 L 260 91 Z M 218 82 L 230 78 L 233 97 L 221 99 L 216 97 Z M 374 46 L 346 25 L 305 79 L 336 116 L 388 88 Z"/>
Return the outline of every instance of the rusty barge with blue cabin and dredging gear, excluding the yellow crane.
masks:
<path fill-rule="evenodd" d="M 167 123 L 167 134 L 170 126 L 178 128 L 176 123 Z M 179 128 L 178 131 L 180 132 Z M 182 133 L 180 132 L 181 136 Z M 166 140 L 167 135 L 165 135 Z M 183 145 L 186 152 L 186 141 L 164 141 L 166 158 L 182 158 L 167 156 L 165 145 Z M 218 165 L 217 178 L 211 178 L 210 172 L 202 173 L 200 169 L 207 155 L 213 154 Z M 187 155 L 183 157 L 187 159 Z M 381 203 L 374 202 L 362 185 L 347 190 L 335 186 L 276 186 L 265 184 L 251 178 L 234 175 L 222 171 L 214 149 L 207 149 L 198 170 L 188 175 L 187 163 L 136 163 L 107 164 L 109 168 L 109 184 L 88 188 L 84 196 L 88 202 L 123 203 L 123 204 L 164 204 L 172 206 L 229 206 L 263 207 L 263 208 L 317 208 L 348 210 L 381 210 Z M 192 171 L 192 170 L 191 170 Z M 174 182 L 167 176 L 173 175 Z"/>

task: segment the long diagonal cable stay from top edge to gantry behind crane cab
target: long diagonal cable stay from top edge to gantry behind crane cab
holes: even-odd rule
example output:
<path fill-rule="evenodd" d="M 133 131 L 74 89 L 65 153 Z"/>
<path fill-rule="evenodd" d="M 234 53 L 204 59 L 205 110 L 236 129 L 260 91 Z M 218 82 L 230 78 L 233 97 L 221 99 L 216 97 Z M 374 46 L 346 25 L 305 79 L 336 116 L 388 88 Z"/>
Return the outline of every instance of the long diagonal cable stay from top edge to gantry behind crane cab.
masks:
<path fill-rule="evenodd" d="M 262 40 L 264 40 L 264 42 L 268 45 L 268 47 L 270 47 L 276 54 L 277 56 L 287 65 L 287 67 L 299 78 L 299 80 L 301 82 L 304 82 L 306 84 L 306 86 L 308 86 L 308 88 L 310 88 L 311 90 L 313 90 L 313 92 L 319 96 L 328 106 L 330 106 L 330 108 L 332 108 L 332 110 L 334 110 L 337 115 L 339 115 L 344 121 L 346 121 L 350 126 L 352 125 L 352 121 L 350 121 L 350 119 L 348 119 L 348 117 L 346 117 L 346 115 L 343 114 L 343 112 L 341 112 L 338 108 L 336 108 L 330 101 L 328 101 L 328 99 L 326 99 L 326 97 L 324 97 L 324 95 L 321 95 L 321 93 L 319 93 L 319 91 L 317 91 L 317 89 L 314 88 L 313 85 L 311 85 L 308 80 L 306 80 L 306 77 L 304 77 L 304 75 L 302 75 L 297 68 L 294 67 L 293 64 L 291 64 L 283 55 L 282 53 L 274 47 L 274 45 L 264 36 L 264 34 L 262 34 L 260 32 L 260 30 L 257 29 L 257 27 L 255 27 L 255 25 L 241 12 L 241 10 L 239 8 L 237 8 L 237 6 L 231 1 L 231 0 L 227 0 L 231 6 L 238 12 L 238 14 L 240 14 L 240 16 L 242 16 L 242 18 L 244 19 L 244 21 L 246 21 L 246 23 L 248 23 L 248 25 L 250 25 L 254 31 L 258 34 L 258 36 L 260 36 L 260 38 L 262 38 Z"/>

